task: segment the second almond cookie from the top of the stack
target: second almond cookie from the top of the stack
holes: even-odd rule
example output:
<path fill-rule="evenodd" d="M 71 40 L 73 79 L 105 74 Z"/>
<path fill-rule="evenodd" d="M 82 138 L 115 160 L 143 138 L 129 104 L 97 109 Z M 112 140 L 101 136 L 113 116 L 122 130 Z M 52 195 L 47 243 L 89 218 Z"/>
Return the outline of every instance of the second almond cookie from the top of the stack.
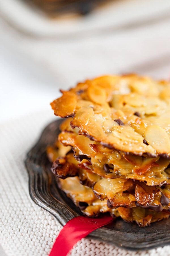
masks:
<path fill-rule="evenodd" d="M 117 150 L 103 147 L 101 144 L 96 144 L 87 137 L 78 135 L 74 129 L 71 132 L 62 131 L 58 140 L 65 146 L 71 145 L 77 157 L 86 155 L 90 158 L 91 165 L 79 164 L 79 167 L 91 170 L 101 177 L 136 179 L 145 181 L 147 185 L 170 183 L 170 175 L 167 172 L 170 160 L 160 157 L 145 158 L 143 156 L 125 154 L 121 151 L 118 152 Z M 110 172 L 106 172 L 105 164 L 109 168 L 112 166 L 113 170 L 109 169 Z"/>

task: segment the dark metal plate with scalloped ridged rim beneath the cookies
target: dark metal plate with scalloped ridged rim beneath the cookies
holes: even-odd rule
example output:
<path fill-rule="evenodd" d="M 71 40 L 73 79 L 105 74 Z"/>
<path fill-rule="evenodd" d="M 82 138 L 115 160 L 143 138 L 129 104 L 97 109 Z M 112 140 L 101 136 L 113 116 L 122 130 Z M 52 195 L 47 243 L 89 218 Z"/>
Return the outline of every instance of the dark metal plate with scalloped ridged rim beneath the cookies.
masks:
<path fill-rule="evenodd" d="M 42 132 L 39 141 L 28 152 L 25 165 L 29 174 L 31 199 L 51 213 L 61 225 L 81 215 L 80 210 L 57 186 L 51 173 L 51 163 L 46 157 L 46 146 L 52 145 L 59 134 L 61 119 L 50 123 Z M 117 219 L 111 224 L 93 231 L 89 238 L 105 241 L 129 250 L 146 250 L 170 244 L 170 218 L 139 228 L 137 224 Z"/>

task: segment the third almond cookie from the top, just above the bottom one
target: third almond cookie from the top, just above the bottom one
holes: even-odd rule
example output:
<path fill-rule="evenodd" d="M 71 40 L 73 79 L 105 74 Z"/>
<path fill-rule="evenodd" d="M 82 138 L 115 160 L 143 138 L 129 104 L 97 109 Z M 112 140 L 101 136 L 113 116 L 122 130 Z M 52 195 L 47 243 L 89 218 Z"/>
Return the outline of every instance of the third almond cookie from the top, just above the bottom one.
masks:
<path fill-rule="evenodd" d="M 88 160 L 83 159 L 82 163 L 87 163 Z M 81 164 L 82 165 L 82 164 Z M 165 199 L 168 203 L 161 203 L 164 189 L 160 190 L 155 186 L 147 186 L 143 182 L 133 181 L 131 179 L 105 179 L 90 170 L 83 170 L 73 157 L 73 152 L 68 153 L 65 157 L 57 158 L 52 165 L 52 172 L 59 178 L 78 176 L 80 183 L 93 188 L 95 196 L 100 200 L 108 199 L 107 206 L 109 208 L 123 207 L 146 207 L 156 211 L 170 208 L 170 191 L 169 186 L 166 189 Z M 165 202 L 166 200 L 162 202 Z"/>

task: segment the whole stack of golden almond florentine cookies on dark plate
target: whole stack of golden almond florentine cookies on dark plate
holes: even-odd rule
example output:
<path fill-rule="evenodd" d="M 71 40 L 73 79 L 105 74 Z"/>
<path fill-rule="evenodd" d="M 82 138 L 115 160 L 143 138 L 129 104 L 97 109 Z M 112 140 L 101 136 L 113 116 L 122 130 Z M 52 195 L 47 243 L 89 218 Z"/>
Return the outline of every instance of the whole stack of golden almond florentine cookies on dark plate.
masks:
<path fill-rule="evenodd" d="M 88 216 L 168 218 L 170 83 L 105 76 L 62 93 L 51 106 L 66 119 L 47 149 L 61 189 Z"/>

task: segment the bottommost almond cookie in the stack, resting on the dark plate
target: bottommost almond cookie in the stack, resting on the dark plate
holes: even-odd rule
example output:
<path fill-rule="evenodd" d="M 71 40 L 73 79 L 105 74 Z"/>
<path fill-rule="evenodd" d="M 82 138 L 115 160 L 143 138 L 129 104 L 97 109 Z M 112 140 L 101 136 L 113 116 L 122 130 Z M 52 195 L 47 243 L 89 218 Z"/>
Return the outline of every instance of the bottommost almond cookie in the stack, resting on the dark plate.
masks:
<path fill-rule="evenodd" d="M 170 212 L 155 212 L 140 207 L 125 208 L 119 207 L 110 209 L 107 207 L 107 199 L 101 201 L 96 199 L 92 189 L 79 183 L 78 177 L 59 179 L 61 189 L 80 207 L 81 211 L 89 217 L 97 217 L 99 214 L 109 212 L 114 218 L 121 217 L 127 222 L 135 221 L 140 227 L 150 225 L 152 222 L 168 218 Z"/>

